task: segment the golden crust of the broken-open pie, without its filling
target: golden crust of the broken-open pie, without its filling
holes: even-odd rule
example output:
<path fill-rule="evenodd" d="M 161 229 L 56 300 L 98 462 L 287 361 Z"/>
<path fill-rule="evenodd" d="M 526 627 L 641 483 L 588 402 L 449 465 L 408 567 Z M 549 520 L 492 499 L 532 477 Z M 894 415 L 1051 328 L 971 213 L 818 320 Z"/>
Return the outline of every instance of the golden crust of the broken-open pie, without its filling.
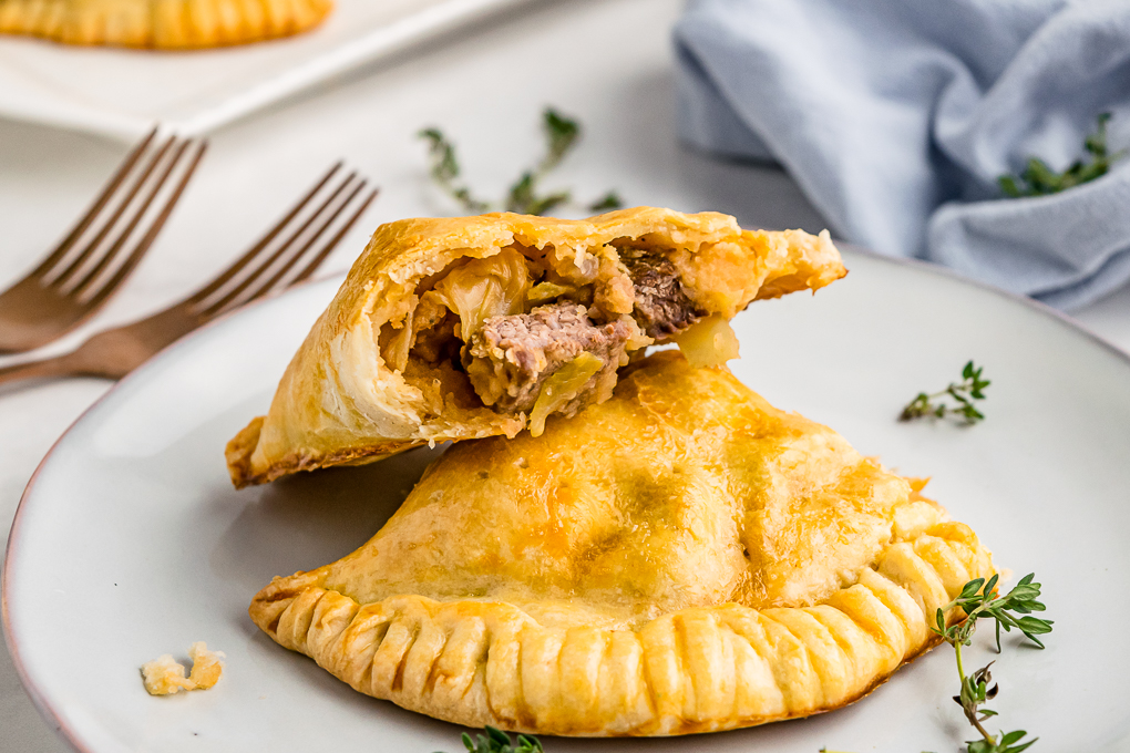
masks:
<path fill-rule="evenodd" d="M 385 364 L 382 327 L 401 326 L 420 281 L 461 260 L 548 248 L 565 266 L 615 268 L 615 244 L 626 239 L 662 248 L 695 303 L 727 318 L 755 298 L 815 290 L 846 273 L 826 233 L 742 230 L 713 212 L 636 208 L 589 220 L 504 213 L 383 225 L 287 367 L 258 441 L 247 441 L 249 427 L 229 445 L 233 481 L 262 483 L 421 443 L 515 436 L 525 413 L 466 404 L 438 378 Z"/>

